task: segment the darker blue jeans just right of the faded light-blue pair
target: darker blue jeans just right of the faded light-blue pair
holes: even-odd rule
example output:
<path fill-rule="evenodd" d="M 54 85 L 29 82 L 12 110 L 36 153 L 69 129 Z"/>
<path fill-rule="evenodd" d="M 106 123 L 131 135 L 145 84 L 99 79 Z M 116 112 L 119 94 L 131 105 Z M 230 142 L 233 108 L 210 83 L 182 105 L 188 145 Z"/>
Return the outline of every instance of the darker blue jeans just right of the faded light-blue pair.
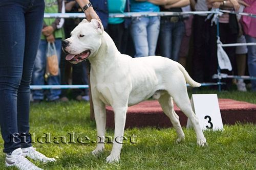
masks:
<path fill-rule="evenodd" d="M 159 35 L 161 56 L 178 61 L 184 33 L 185 24 L 183 21 L 171 22 L 169 19 L 162 18 Z"/>

